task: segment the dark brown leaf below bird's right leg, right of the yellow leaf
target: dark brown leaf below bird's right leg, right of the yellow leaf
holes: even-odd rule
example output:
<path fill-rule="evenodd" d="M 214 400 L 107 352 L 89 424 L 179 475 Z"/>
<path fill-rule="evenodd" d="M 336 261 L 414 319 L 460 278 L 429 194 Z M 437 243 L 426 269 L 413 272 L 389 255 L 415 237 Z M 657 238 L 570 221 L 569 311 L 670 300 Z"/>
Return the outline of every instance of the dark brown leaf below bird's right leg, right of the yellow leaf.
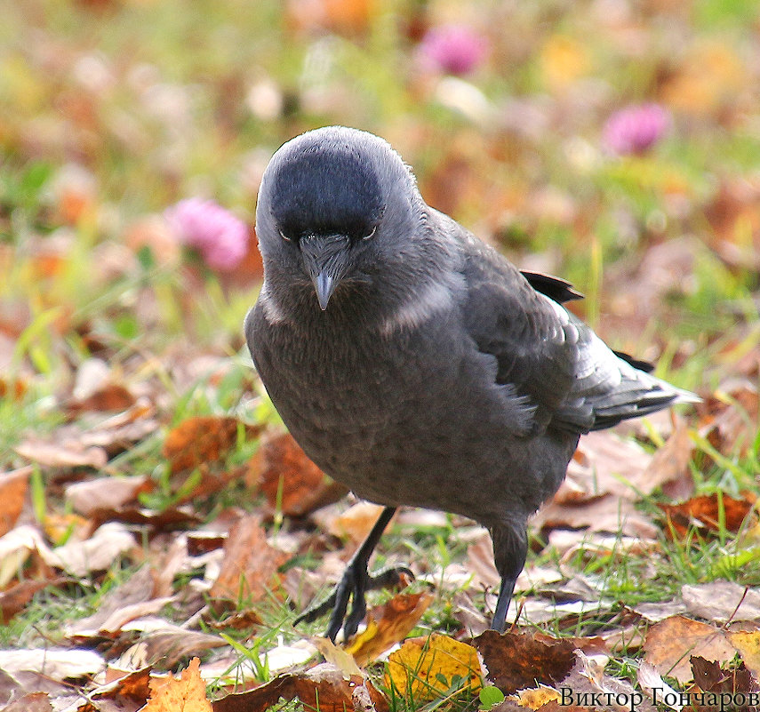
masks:
<path fill-rule="evenodd" d="M 488 670 L 489 682 L 511 694 L 536 682 L 556 684 L 571 671 L 576 656 L 568 640 L 539 640 L 530 633 L 486 630 L 472 643 Z"/>

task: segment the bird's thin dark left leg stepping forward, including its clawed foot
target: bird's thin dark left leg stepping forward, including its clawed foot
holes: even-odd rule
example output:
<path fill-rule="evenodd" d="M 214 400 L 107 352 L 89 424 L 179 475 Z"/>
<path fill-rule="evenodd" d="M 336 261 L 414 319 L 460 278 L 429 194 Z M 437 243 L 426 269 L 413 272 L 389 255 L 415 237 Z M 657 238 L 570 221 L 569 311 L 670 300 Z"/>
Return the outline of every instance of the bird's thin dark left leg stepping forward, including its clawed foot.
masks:
<path fill-rule="evenodd" d="M 378 541 L 380 541 L 382 532 L 385 531 L 388 522 L 395 513 L 395 507 L 386 507 L 382 510 L 380 517 L 378 517 L 378 521 L 375 522 L 372 527 L 372 531 L 364 540 L 362 546 L 356 549 L 356 554 L 351 557 L 351 560 L 346 567 L 346 571 L 343 572 L 342 578 L 338 582 L 338 585 L 333 589 L 330 596 L 328 596 L 321 604 L 317 604 L 301 613 L 293 622 L 293 625 L 300 623 L 302 620 L 310 623 L 332 608 L 330 623 L 327 626 L 327 632 L 325 635 L 334 642 L 336 636 L 338 636 L 340 628 L 343 628 L 343 633 L 348 638 L 356 633 L 359 623 L 367 612 L 367 604 L 364 600 L 364 594 L 368 590 L 396 584 L 401 580 L 402 574 L 406 574 L 413 578 L 412 572 L 405 567 L 384 569 L 381 572 L 376 573 L 374 576 L 370 576 L 368 572 L 368 564 L 370 556 L 372 556 L 372 551 L 374 551 Z M 353 596 L 354 602 L 351 606 L 351 612 L 348 614 L 348 618 L 346 618 L 348 599 L 351 596 Z M 346 621 L 345 625 L 343 623 L 344 620 Z"/>

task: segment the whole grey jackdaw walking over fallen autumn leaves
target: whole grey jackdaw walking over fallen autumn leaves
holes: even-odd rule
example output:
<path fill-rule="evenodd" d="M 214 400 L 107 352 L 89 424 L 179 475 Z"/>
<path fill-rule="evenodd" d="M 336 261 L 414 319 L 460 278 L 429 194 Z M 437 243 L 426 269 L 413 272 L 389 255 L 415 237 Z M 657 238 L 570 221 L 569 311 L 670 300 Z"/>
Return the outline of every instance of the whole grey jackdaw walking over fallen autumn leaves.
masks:
<path fill-rule="evenodd" d="M 284 143 L 255 232 L 264 279 L 244 332 L 260 380 L 308 457 L 384 507 L 332 595 L 298 619 L 332 608 L 333 642 L 356 633 L 366 590 L 404 571 L 368 567 L 408 506 L 488 529 L 503 631 L 528 518 L 580 436 L 699 400 L 608 348 L 564 307 L 580 298 L 571 284 L 520 271 L 430 207 L 372 133 L 327 126 Z"/>

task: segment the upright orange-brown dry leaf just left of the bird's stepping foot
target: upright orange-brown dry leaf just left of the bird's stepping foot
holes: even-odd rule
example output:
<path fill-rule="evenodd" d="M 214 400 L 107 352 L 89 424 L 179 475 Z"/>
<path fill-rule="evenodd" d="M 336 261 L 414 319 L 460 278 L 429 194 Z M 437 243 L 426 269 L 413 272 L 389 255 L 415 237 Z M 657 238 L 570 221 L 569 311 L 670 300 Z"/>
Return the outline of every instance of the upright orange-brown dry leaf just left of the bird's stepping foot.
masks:
<path fill-rule="evenodd" d="M 244 516 L 232 527 L 224 545 L 219 577 L 209 595 L 255 603 L 270 591 L 281 591 L 279 568 L 289 556 L 272 547 L 258 516 Z"/>

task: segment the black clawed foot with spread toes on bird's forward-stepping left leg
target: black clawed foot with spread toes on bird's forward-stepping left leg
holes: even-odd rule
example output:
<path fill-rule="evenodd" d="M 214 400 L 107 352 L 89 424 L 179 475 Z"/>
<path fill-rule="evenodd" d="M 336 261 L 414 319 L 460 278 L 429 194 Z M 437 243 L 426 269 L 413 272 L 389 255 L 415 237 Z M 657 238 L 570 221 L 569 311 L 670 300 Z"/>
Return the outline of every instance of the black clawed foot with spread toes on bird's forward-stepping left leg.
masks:
<path fill-rule="evenodd" d="M 414 574 L 405 566 L 392 566 L 380 569 L 372 575 L 367 571 L 365 565 L 360 561 L 352 561 L 343 572 L 343 576 L 338 585 L 332 589 L 330 596 L 319 604 L 313 605 L 306 611 L 302 612 L 293 625 L 301 622 L 311 623 L 324 613 L 331 611 L 330 623 L 327 626 L 325 636 L 335 642 L 340 628 L 343 628 L 343 635 L 348 639 L 356 633 L 359 623 L 364 619 L 367 612 L 367 603 L 364 594 L 367 591 L 377 590 L 378 588 L 395 588 L 404 580 L 414 580 Z M 353 598 L 351 612 L 346 616 L 348 611 L 348 599 Z"/>

